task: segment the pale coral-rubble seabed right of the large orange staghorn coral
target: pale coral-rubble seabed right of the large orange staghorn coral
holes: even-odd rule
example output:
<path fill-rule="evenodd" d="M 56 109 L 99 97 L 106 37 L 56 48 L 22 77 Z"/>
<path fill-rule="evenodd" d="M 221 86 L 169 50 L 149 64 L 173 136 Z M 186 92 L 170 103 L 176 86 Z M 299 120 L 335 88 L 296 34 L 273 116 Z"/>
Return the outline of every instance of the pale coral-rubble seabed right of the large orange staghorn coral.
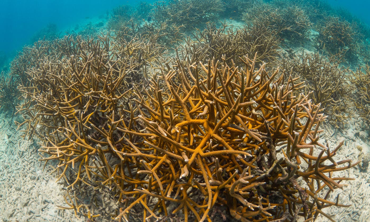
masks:
<path fill-rule="evenodd" d="M 326 139 L 332 141 L 332 144 L 337 144 L 344 140 L 344 146 L 337 152 L 336 161 L 344 159 L 352 159 L 356 162 L 359 158 L 360 151 L 357 146 L 362 147 L 362 152 L 368 154 L 370 151 L 370 141 L 368 132 L 364 131 L 366 124 L 358 117 L 353 117 L 349 123 L 346 124 L 346 129 L 338 132 L 336 136 L 331 137 L 329 133 L 325 134 Z M 330 129 L 330 130 L 333 130 Z M 362 159 L 362 156 L 360 157 Z M 362 165 L 360 163 L 359 165 Z M 324 212 L 332 215 L 337 222 L 341 221 L 370 221 L 370 168 L 367 171 L 360 171 L 360 166 L 350 168 L 349 170 L 337 172 L 335 177 L 351 177 L 352 181 L 342 181 L 341 184 L 348 186 L 342 189 L 336 189 L 330 195 L 330 200 L 335 202 L 337 194 L 339 196 L 339 204 L 351 205 L 347 208 L 332 206 L 326 208 Z M 369 173 L 368 173 L 369 172 Z M 318 221 L 330 221 L 324 217 L 320 217 Z"/>

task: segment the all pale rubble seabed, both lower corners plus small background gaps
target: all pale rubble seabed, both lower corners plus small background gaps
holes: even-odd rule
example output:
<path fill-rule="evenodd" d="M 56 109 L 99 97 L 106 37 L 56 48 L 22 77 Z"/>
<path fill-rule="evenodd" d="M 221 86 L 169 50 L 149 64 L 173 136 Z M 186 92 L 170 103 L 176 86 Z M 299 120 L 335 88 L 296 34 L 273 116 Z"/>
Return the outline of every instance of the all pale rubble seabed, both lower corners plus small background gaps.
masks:
<path fill-rule="evenodd" d="M 93 23 L 97 24 L 101 21 L 96 19 Z M 235 27 L 242 24 L 235 20 L 227 20 L 227 22 Z M 80 27 L 84 25 L 86 23 L 81 24 Z M 313 53 L 312 44 L 315 34 L 313 31 L 311 39 L 294 46 L 285 42 L 286 45 L 283 48 L 292 48 L 296 53 L 302 52 L 302 49 Z M 84 216 L 79 215 L 80 218 L 77 218 L 73 210 L 63 210 L 57 207 L 57 205 L 67 206 L 64 201 L 66 194 L 63 189 L 64 183 L 63 181 L 55 182 L 57 178 L 55 174 L 50 174 L 52 168 L 49 165 L 46 165 L 43 170 L 44 162 L 38 161 L 37 149 L 40 145 L 36 139 L 22 139 L 22 133 L 16 130 L 14 120 L 23 122 L 20 115 L 15 115 L 11 120 L 11 115 L 0 113 L 0 222 L 86 221 Z M 362 158 L 370 153 L 370 127 L 366 126 L 366 123 L 356 113 L 347 120 L 342 129 L 335 129 L 328 122 L 322 126 L 322 129 L 326 130 L 320 139 L 322 143 L 329 141 L 332 144 L 331 147 L 335 147 L 344 140 L 334 160 L 352 159 L 352 163 L 355 163 L 359 156 Z M 362 151 L 359 150 L 360 147 Z M 362 155 L 360 155 L 361 152 L 363 152 Z M 55 166 L 55 164 L 52 165 Z M 332 206 L 323 211 L 337 222 L 369 222 L 370 168 L 368 171 L 369 173 L 366 170 L 361 171 L 357 165 L 349 170 L 336 172 L 333 176 L 351 177 L 354 180 L 342 181 L 341 184 L 347 184 L 347 186 L 334 190 L 328 199 L 335 202 L 337 194 L 340 194 L 339 203 L 351 206 L 347 208 Z M 101 219 L 97 218 L 97 221 Z M 222 219 L 217 221 L 222 221 Z M 316 221 L 330 220 L 320 216 Z"/>

